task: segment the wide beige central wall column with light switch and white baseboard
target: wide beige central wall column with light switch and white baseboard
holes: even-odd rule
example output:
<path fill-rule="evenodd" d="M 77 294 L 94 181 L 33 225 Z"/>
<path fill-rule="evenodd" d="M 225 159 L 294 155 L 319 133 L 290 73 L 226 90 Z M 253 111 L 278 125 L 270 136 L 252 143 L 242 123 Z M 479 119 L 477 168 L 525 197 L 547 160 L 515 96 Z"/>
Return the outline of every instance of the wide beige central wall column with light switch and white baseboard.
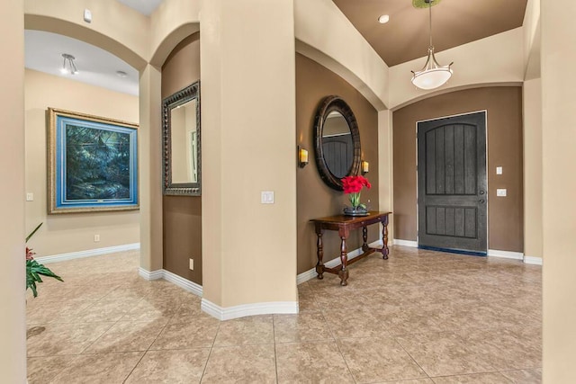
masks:
<path fill-rule="evenodd" d="M 200 28 L 202 308 L 295 312 L 293 0 L 202 0 Z"/>

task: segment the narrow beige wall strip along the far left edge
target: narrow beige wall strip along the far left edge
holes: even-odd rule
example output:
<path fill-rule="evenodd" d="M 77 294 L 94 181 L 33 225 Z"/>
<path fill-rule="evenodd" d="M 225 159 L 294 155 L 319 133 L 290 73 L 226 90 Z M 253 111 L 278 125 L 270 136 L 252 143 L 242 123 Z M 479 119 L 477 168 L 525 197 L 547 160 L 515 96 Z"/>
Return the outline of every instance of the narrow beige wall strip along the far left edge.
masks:
<path fill-rule="evenodd" d="M 24 296 L 24 31 L 23 3 L 0 5 L 0 45 L 10 52 L 0 71 L 0 371 L 26 381 Z"/>

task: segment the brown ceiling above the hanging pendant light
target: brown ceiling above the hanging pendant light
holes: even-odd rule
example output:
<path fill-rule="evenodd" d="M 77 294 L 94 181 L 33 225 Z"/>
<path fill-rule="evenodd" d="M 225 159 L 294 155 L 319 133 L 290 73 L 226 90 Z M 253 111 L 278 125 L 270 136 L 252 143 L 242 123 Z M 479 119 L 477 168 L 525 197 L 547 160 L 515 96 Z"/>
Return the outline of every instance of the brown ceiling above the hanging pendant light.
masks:
<path fill-rule="evenodd" d="M 428 53 L 428 9 L 411 0 L 333 0 L 356 30 L 389 66 Z M 432 7 L 432 38 L 436 52 L 518 28 L 527 0 L 442 0 Z M 390 15 L 381 24 L 378 17 Z M 440 63 L 448 64 L 448 63 Z M 422 63 L 424 65 L 424 63 Z"/>

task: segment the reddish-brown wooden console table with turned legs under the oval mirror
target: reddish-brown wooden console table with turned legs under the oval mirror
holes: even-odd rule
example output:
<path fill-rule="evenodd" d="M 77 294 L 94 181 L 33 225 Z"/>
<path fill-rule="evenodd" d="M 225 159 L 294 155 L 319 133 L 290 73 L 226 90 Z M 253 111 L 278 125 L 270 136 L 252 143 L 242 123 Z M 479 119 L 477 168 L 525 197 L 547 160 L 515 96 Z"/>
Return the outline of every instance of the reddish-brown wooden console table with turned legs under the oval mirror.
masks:
<path fill-rule="evenodd" d="M 347 244 L 346 239 L 350 234 L 350 230 L 356 228 L 362 228 L 362 237 L 364 239 L 364 244 L 362 245 L 362 250 L 364 253 L 355 257 L 354 259 L 350 260 L 351 263 L 356 263 L 358 260 L 363 259 L 367 255 L 373 254 L 375 251 L 382 252 L 383 259 L 388 259 L 388 215 L 391 215 L 392 212 L 377 212 L 377 211 L 370 211 L 368 212 L 367 216 L 345 216 L 345 215 L 336 215 L 330 216 L 328 218 L 321 218 L 321 219 L 311 219 L 314 223 L 316 228 L 316 236 L 318 237 L 318 241 L 316 243 L 317 251 L 316 255 L 318 255 L 318 263 L 316 264 L 316 272 L 318 273 L 318 278 L 324 278 L 324 272 L 338 274 L 340 277 L 340 285 L 347 285 L 348 282 L 348 270 L 347 265 L 348 263 L 348 255 L 347 255 Z M 371 224 L 382 223 L 382 235 L 383 235 L 383 248 L 371 248 L 368 246 L 368 229 L 367 226 Z M 338 236 L 342 240 L 340 245 L 340 265 L 334 268 L 328 268 L 322 262 L 324 257 L 324 251 L 322 247 L 322 230 L 337 230 Z"/>

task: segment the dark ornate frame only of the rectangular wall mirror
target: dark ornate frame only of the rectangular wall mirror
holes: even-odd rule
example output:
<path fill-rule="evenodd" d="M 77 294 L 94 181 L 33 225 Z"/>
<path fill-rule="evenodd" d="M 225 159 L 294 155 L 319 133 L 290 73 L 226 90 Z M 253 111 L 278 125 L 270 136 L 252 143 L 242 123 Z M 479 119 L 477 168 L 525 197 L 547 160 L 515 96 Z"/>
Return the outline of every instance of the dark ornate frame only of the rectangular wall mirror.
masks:
<path fill-rule="evenodd" d="M 172 183 L 172 127 L 171 112 L 176 107 L 196 101 L 196 182 Z M 200 196 L 202 180 L 201 140 L 200 140 L 200 81 L 186 86 L 162 101 L 162 148 L 164 153 L 164 166 L 162 170 L 162 190 L 166 195 Z"/>

